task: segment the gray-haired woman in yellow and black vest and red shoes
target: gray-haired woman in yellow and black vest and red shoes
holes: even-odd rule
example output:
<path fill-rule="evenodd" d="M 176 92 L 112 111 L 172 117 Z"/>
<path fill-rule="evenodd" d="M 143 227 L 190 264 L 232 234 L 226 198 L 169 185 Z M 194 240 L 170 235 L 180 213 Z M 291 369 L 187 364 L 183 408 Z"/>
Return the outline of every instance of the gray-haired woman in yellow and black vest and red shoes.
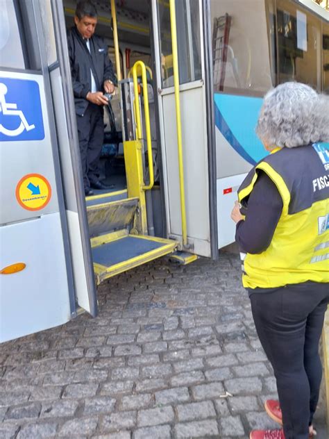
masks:
<path fill-rule="evenodd" d="M 319 399 L 319 339 L 329 303 L 329 101 L 301 83 L 264 97 L 258 136 L 271 154 L 249 172 L 231 217 L 242 281 L 273 366 L 283 429 L 251 439 L 306 439 Z"/>

